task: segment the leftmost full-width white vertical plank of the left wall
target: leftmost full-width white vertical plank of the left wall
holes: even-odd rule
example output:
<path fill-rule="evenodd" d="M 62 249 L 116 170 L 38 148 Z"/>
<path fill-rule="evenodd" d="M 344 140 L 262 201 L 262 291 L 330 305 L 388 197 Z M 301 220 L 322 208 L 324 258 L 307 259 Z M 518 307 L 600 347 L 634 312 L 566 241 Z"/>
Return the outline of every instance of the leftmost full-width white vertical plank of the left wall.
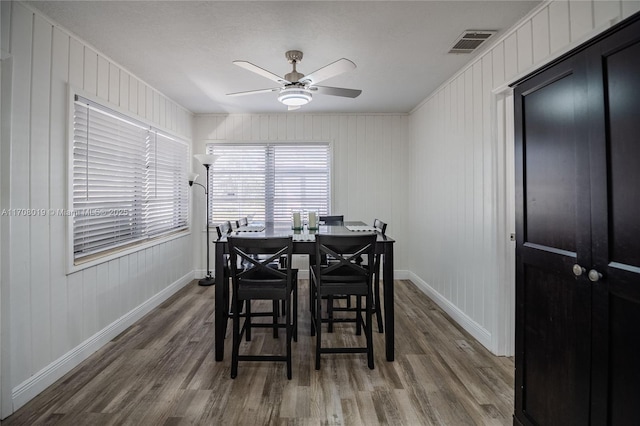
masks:
<path fill-rule="evenodd" d="M 31 99 L 31 49 L 33 35 L 33 14 L 21 4 L 13 3 L 11 16 L 11 55 L 13 59 L 13 94 L 11 111 L 13 121 L 11 133 L 16 143 L 12 144 L 11 208 L 29 208 L 30 172 L 30 102 Z M 32 372 L 31 341 L 31 295 L 29 283 L 30 229 L 29 220 L 24 217 L 11 218 L 11 233 L 20 238 L 11 239 L 11 307 L 24 307 L 24 311 L 11 310 L 12 383 L 18 377 Z M 14 283 L 21 283 L 16 286 Z M 25 338 L 25 336 L 27 338 Z M 20 354 L 20 356 L 16 356 Z"/>

